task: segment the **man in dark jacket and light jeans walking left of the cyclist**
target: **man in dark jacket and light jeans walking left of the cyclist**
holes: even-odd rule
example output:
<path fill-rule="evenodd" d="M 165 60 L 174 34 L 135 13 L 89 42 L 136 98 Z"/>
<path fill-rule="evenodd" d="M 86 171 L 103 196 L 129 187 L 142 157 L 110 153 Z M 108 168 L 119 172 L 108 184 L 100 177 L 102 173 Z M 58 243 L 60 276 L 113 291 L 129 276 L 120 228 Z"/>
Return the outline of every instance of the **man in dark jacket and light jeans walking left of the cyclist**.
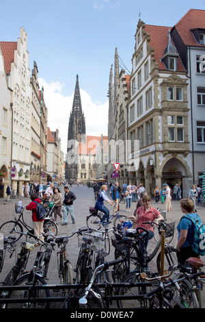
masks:
<path fill-rule="evenodd" d="M 68 224 L 68 212 L 70 214 L 72 223 L 75 223 L 75 219 L 74 219 L 74 212 L 73 212 L 73 201 L 76 199 L 74 193 L 72 193 L 72 191 L 69 190 L 68 186 L 64 186 L 64 191 L 65 191 L 65 195 L 64 195 L 64 201 L 63 201 L 63 205 L 64 205 L 64 221 L 62 223 L 62 225 L 67 225 Z"/>

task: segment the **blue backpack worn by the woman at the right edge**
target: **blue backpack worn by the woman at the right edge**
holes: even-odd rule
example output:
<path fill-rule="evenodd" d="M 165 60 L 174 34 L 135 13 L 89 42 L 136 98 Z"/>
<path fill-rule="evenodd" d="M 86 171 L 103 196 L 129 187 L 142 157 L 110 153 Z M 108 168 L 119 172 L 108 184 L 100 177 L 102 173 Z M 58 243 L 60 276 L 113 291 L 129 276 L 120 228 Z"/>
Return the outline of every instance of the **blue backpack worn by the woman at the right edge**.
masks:
<path fill-rule="evenodd" d="M 194 225 L 194 232 L 193 232 L 193 245 L 192 249 L 198 255 L 204 256 L 205 255 L 205 225 L 200 220 L 200 216 L 198 214 L 197 219 L 193 219 L 187 215 L 183 217 L 188 218 L 192 221 Z"/>

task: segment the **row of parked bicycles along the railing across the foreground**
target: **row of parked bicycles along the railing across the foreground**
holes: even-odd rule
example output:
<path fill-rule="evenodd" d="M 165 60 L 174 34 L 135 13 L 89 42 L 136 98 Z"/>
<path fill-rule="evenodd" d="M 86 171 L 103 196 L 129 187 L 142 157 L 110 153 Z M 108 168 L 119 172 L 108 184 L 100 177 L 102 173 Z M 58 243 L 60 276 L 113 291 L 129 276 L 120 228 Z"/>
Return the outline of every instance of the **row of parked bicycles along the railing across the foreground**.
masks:
<path fill-rule="evenodd" d="M 23 235 L 37 240 L 40 243 L 40 249 L 36 254 L 31 271 L 25 273 L 29 254 L 34 247 L 31 243 L 21 243 L 17 262 L 3 282 L 4 286 L 10 287 L 1 290 L 1 307 L 50 307 L 50 290 L 49 286 L 46 286 L 48 285 L 46 274 L 55 245 L 59 247 L 57 271 L 59 284 L 62 285 L 63 307 L 108 308 L 113 301 L 119 308 L 200 306 L 196 297 L 197 283 L 193 277 L 202 281 L 199 277 L 201 273 L 193 276 L 190 271 L 184 269 L 184 273 L 178 271 L 174 282 L 169 281 L 169 275 L 171 276 L 178 269 L 176 249 L 169 246 L 170 238 L 174 235 L 173 223 L 161 222 L 157 226 L 156 223 L 150 223 L 158 228 L 158 234 L 156 234 L 158 241 L 152 253 L 147 254 L 146 247 L 144 247 L 146 230 L 143 230 L 144 236 L 141 235 L 139 229 L 133 230 L 129 227 L 131 221 L 128 221 L 126 216 L 120 218 L 120 214 L 116 214 L 115 219 L 118 221 L 109 230 L 97 220 L 99 214 L 95 215 L 93 212 L 90 214 L 94 216 L 94 219 L 87 220 L 88 227 L 72 232 L 70 236 L 56 236 L 56 234 L 46 232 L 43 235 L 44 240 L 34 236 L 29 230 L 26 233 L 21 229 L 18 230 L 20 226 L 15 225 L 13 231 L 15 235 L 10 238 L 5 237 L 4 251 L 10 251 L 10 256 L 12 256 L 16 240 Z M 23 221 L 23 210 L 20 212 L 20 217 Z M 89 228 L 89 224 L 92 227 Z M 3 227 L 5 228 L 5 225 Z M 164 258 L 165 273 L 161 272 L 161 252 L 158 253 L 161 250 L 161 230 L 166 232 L 167 238 Z M 76 234 L 79 239 L 79 255 L 76 267 L 72 270 L 66 247 L 68 240 Z M 115 247 L 114 259 L 106 262 L 110 243 Z M 2 252 L 1 257 L 3 256 Z M 148 263 L 155 256 L 158 271 L 151 272 L 148 269 Z M 202 262 L 197 262 L 197 266 L 202 265 Z M 0 266 L 3 267 L 2 261 Z M 182 267 L 180 269 L 182 270 Z M 50 289 L 53 288 L 51 285 Z"/>

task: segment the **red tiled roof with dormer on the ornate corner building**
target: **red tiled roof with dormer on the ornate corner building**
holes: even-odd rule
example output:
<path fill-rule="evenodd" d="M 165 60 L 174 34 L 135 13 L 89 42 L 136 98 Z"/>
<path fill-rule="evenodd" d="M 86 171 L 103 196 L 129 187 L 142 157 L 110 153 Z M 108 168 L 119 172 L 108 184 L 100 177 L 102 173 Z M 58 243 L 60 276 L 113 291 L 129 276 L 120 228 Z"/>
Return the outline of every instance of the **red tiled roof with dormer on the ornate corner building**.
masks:
<path fill-rule="evenodd" d="M 150 34 L 150 46 L 154 48 L 154 58 L 156 62 L 159 64 L 160 70 L 167 71 L 167 68 L 161 58 L 164 55 L 165 48 L 167 47 L 169 41 L 169 30 L 172 27 L 163 27 L 163 26 L 154 26 L 154 25 L 146 25 L 145 31 Z M 174 42 L 172 40 L 172 44 Z M 178 71 L 185 71 L 182 61 L 178 57 Z"/>

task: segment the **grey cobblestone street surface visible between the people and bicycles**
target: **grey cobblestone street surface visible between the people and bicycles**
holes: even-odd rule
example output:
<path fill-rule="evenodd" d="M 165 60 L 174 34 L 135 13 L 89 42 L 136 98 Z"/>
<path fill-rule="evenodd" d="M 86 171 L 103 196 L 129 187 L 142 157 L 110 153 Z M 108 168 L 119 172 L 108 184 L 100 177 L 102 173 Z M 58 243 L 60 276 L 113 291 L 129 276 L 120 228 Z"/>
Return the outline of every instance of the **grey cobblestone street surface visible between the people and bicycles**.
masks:
<path fill-rule="evenodd" d="M 86 216 L 89 214 L 89 207 L 94 206 L 95 201 L 94 201 L 94 191 L 93 188 L 87 188 L 87 186 L 72 186 L 70 190 L 76 195 L 77 199 L 74 201 L 74 216 L 75 216 L 75 224 L 72 224 L 72 221 L 70 217 L 68 217 L 68 225 L 61 225 L 60 219 L 58 219 L 58 225 L 59 225 L 59 234 L 71 234 L 72 230 L 78 230 L 79 228 L 86 227 Z M 64 187 L 61 186 L 61 192 L 62 192 L 62 199 L 64 198 Z M 107 195 L 110 198 L 109 193 Z M 20 198 L 23 201 L 23 205 L 27 205 L 30 202 L 29 198 L 21 197 Z M 0 225 L 4 223 L 5 221 L 13 219 L 13 212 L 15 209 L 15 203 L 18 201 L 18 199 L 12 199 L 10 202 L 6 202 L 4 199 L 0 199 Z M 126 208 L 125 208 L 124 203 L 120 203 L 120 213 L 121 214 L 126 214 Z M 155 201 L 152 201 L 152 206 L 154 208 L 159 207 L 160 210 L 165 209 L 165 205 L 161 204 L 161 201 L 159 201 L 159 204 L 156 204 Z M 131 214 L 133 214 L 134 210 L 136 207 L 136 203 L 132 203 L 131 206 Z M 109 206 L 110 213 L 112 212 L 111 206 Z M 178 224 L 178 221 L 180 221 L 181 218 L 181 212 L 180 212 L 180 206 L 179 206 L 179 201 L 172 201 L 172 212 L 167 213 L 167 222 L 172 222 L 176 221 L 176 225 Z M 202 221 L 205 223 L 205 205 L 204 203 L 200 204 L 200 206 L 197 206 L 197 213 L 200 215 L 202 218 Z M 25 210 L 25 221 L 27 223 L 30 223 L 32 226 L 31 222 L 31 212 Z M 58 217 L 59 218 L 59 217 Z M 110 225 L 110 227 L 112 227 Z M 174 240 L 172 241 L 172 245 L 176 245 L 176 240 L 178 237 L 178 233 L 175 232 L 174 235 Z M 21 241 L 25 240 L 25 236 L 20 238 L 18 243 Z M 150 240 L 148 244 L 148 253 L 150 250 L 155 247 L 156 242 L 154 238 Z M 27 270 L 29 270 L 34 262 L 34 259 L 36 258 L 36 252 L 38 247 L 34 249 L 29 257 L 29 262 L 27 264 Z M 72 263 L 72 268 L 75 267 L 78 252 L 79 252 L 79 247 L 78 247 L 78 240 L 77 236 L 72 236 L 68 242 L 68 253 L 69 257 Z M 57 252 L 57 247 L 55 247 L 55 251 L 53 251 L 52 256 L 51 256 L 51 262 L 49 265 L 49 273 L 48 273 L 48 284 L 59 284 L 59 278 L 57 275 L 57 259 L 56 259 L 56 252 Z M 16 262 L 16 255 L 18 253 L 18 247 L 16 249 L 16 252 L 12 256 L 12 258 L 5 258 L 5 263 L 3 266 L 3 271 L 0 274 L 0 282 L 3 281 L 5 278 L 5 274 L 8 273 L 8 270 L 14 265 L 14 262 Z M 112 260 L 113 259 L 113 247 L 111 246 L 111 252 L 109 256 L 107 256 L 107 260 Z M 203 259 L 203 258 L 202 258 Z M 155 263 L 156 263 L 156 257 L 154 258 Z M 152 270 L 156 268 L 156 265 L 153 262 L 150 266 L 152 267 Z M 56 296 L 56 295 L 55 295 Z M 53 305 L 52 305 L 53 306 Z M 203 307 L 205 308 L 204 305 L 204 297 L 203 297 Z"/>

